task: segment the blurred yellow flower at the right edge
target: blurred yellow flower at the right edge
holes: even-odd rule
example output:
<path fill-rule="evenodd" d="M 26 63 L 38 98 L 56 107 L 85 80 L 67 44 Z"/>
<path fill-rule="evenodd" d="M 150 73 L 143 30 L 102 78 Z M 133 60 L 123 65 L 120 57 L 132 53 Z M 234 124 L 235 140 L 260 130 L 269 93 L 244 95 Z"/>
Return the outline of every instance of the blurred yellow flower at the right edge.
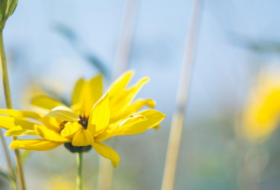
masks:
<path fill-rule="evenodd" d="M 280 78 L 275 72 L 260 74 L 244 112 L 244 135 L 263 142 L 276 129 L 280 114 Z"/>

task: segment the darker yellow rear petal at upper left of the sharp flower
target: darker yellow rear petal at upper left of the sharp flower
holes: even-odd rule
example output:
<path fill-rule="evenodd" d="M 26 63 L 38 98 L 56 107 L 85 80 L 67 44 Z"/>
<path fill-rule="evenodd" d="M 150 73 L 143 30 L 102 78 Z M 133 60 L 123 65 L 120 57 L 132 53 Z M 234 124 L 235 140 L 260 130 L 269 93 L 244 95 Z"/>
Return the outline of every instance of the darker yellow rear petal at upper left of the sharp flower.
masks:
<path fill-rule="evenodd" d="M 64 105 L 64 103 L 61 103 L 53 98 L 50 98 L 48 96 L 40 96 L 33 98 L 31 100 L 31 105 L 33 105 L 36 108 L 41 108 L 44 112 L 49 112 L 53 108 L 59 106 L 59 105 Z"/>

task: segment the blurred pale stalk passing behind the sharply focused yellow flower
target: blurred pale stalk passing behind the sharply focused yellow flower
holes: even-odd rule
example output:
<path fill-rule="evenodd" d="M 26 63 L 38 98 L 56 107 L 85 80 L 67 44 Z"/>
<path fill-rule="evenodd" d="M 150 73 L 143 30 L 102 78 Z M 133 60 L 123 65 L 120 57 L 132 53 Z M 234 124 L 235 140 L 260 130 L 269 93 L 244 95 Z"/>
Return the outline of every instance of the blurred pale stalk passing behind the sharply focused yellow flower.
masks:
<path fill-rule="evenodd" d="M 115 80 L 127 70 L 138 3 L 138 0 L 127 0 L 125 3 L 111 80 Z M 113 167 L 111 166 L 111 161 L 107 161 L 102 156 L 99 156 L 97 190 L 110 190 L 112 187 L 112 180 Z"/>

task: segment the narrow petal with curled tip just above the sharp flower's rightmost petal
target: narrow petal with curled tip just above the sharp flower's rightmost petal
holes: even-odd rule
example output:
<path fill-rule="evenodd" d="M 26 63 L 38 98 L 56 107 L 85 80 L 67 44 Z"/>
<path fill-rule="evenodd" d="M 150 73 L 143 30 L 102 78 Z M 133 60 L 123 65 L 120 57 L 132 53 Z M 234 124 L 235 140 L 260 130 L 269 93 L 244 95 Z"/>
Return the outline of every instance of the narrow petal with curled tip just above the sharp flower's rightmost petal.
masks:
<path fill-rule="evenodd" d="M 110 118 L 110 123 L 117 122 L 119 119 L 123 119 L 125 117 L 129 117 L 130 115 L 133 115 L 134 112 L 139 111 L 141 108 L 143 108 L 144 105 L 147 105 L 150 108 L 155 108 L 155 101 L 153 101 L 150 98 L 146 100 L 139 99 L 134 103 L 128 105 L 127 107 L 123 108 L 123 110 L 115 112 Z"/>

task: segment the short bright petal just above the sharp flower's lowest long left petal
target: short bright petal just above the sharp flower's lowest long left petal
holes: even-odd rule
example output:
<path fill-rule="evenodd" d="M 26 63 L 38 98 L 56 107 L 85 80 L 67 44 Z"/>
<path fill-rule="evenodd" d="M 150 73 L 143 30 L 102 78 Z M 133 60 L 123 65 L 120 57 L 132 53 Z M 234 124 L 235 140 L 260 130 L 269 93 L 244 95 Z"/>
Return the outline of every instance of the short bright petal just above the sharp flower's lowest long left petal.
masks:
<path fill-rule="evenodd" d="M 41 138 L 55 142 L 71 142 L 71 140 L 62 137 L 59 133 L 48 129 L 46 126 L 36 126 L 36 133 Z"/>

